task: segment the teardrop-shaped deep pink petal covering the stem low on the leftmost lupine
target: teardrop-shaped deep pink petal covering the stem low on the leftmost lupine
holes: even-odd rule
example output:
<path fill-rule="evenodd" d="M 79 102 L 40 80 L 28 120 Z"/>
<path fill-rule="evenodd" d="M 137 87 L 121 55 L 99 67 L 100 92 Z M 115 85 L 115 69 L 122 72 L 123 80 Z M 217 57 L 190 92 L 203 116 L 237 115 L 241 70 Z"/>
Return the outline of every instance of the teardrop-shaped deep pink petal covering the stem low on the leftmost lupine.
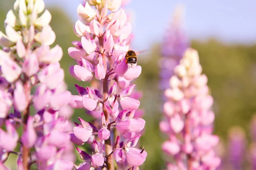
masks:
<path fill-rule="evenodd" d="M 35 133 L 33 124 L 34 124 L 34 120 L 31 116 L 29 116 L 26 131 L 23 133 L 21 137 L 22 144 L 27 148 L 33 147 L 37 139 L 37 135 Z"/>

